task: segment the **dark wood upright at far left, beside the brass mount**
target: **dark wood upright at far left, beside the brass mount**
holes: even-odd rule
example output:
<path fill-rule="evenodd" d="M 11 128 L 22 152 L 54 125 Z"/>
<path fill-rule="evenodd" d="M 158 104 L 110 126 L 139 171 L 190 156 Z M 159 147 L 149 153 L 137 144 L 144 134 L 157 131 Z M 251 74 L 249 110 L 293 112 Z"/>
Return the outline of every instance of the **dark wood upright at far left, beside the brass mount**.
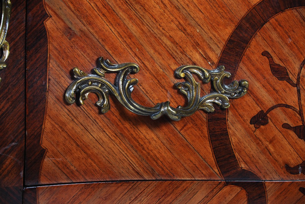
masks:
<path fill-rule="evenodd" d="M 25 2 L 12 2 L 6 41 L 7 67 L 0 70 L 0 203 L 21 203 L 25 135 Z"/>

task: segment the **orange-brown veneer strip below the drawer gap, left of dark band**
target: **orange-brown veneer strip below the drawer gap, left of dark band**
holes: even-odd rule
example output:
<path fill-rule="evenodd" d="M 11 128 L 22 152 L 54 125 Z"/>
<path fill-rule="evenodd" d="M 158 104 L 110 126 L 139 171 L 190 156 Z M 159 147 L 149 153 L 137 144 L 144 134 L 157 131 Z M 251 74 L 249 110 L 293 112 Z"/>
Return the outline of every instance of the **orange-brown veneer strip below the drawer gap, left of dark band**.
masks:
<path fill-rule="evenodd" d="M 224 201 L 223 196 L 228 199 L 222 203 L 228 203 L 240 191 L 237 187 L 225 187 L 220 181 L 73 184 L 38 187 L 38 203 L 219 203 Z"/>

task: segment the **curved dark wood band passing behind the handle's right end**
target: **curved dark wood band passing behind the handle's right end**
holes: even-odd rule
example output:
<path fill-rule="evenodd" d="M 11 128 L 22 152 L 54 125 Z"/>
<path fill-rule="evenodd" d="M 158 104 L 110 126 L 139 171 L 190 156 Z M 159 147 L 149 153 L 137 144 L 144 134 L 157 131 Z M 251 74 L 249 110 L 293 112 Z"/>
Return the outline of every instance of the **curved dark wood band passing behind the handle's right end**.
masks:
<path fill-rule="evenodd" d="M 257 3 L 243 18 L 235 30 L 231 33 L 225 47 L 223 48 L 217 66 L 224 65 L 226 70 L 234 73 L 227 80 L 230 83 L 238 69 L 239 63 L 246 51 L 249 43 L 258 30 L 271 18 L 277 14 L 297 7 L 305 6 L 303 0 L 262 0 Z M 208 114 L 208 131 L 210 136 L 211 147 L 218 169 L 225 180 L 260 180 L 257 175 L 239 166 L 234 154 L 229 133 L 227 129 L 227 110 L 216 108 L 214 113 Z M 231 182 L 227 182 L 231 184 Z M 250 183 L 248 182 L 250 185 Z M 235 182 L 234 185 L 240 186 L 247 191 L 249 203 L 266 202 L 266 195 L 263 182 L 253 182 L 254 188 L 246 188 L 244 183 Z M 253 190 L 255 189 L 255 190 Z M 250 199 L 252 198 L 252 199 Z"/>

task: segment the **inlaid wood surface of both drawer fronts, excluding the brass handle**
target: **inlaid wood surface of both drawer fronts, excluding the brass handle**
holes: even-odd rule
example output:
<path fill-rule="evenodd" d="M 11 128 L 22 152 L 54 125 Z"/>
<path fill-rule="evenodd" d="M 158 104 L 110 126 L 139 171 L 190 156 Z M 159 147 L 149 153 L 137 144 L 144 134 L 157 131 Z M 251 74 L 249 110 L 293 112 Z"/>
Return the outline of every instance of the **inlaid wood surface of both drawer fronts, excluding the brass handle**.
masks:
<path fill-rule="evenodd" d="M 24 202 L 304 202 L 305 184 L 297 182 L 305 180 L 304 6 L 28 2 Z M 144 106 L 186 103 L 173 87 L 181 65 L 224 65 L 232 73 L 226 83 L 246 79 L 249 89 L 227 110 L 180 121 L 135 115 L 115 98 L 102 114 L 94 94 L 83 106 L 66 104 L 73 68 L 90 73 L 100 56 L 140 66 L 130 77 L 139 80 L 132 97 Z"/>

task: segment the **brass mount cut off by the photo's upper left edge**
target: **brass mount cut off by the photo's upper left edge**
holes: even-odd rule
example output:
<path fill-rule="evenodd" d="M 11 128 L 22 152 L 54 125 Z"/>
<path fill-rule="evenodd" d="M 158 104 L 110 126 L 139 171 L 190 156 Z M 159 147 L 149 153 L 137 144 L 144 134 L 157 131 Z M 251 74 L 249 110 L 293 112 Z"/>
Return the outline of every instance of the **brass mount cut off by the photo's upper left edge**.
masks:
<path fill-rule="evenodd" d="M 11 16 L 11 1 L 2 0 L 2 16 L 0 26 L 0 48 L 2 48 L 2 57 L 0 58 L 0 70 L 6 67 L 5 60 L 9 56 L 9 43 L 5 40 L 7 29 L 9 27 L 9 17 Z M 1 77 L 0 77 L 1 82 Z"/>

